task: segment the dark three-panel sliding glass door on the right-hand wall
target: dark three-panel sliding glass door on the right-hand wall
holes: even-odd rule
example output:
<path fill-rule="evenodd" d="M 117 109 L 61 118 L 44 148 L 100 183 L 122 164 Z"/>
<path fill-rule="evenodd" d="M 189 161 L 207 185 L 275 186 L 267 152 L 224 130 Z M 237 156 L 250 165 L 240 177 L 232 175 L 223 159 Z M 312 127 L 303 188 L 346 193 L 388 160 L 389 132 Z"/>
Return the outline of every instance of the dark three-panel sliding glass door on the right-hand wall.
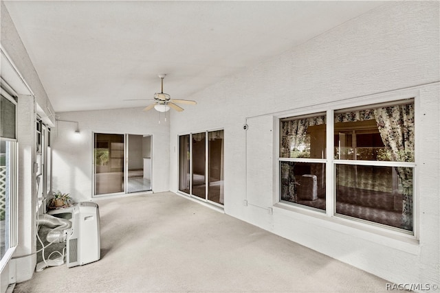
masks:
<path fill-rule="evenodd" d="M 179 191 L 223 204 L 223 130 L 179 136 Z"/>

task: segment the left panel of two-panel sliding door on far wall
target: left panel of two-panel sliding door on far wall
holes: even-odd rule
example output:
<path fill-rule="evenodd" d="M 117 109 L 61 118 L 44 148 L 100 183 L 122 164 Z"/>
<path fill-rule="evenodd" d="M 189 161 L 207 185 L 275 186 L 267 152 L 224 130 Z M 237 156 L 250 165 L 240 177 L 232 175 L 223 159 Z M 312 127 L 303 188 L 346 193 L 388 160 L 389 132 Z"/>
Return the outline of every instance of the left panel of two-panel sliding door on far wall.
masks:
<path fill-rule="evenodd" d="M 124 134 L 95 133 L 95 194 L 124 191 Z"/>

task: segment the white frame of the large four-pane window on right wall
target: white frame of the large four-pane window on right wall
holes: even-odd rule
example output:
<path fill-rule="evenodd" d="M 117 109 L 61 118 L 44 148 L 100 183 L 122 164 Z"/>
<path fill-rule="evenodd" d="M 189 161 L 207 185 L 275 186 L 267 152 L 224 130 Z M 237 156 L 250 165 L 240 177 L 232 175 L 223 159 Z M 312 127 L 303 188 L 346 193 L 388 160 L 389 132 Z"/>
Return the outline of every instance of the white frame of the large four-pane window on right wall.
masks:
<path fill-rule="evenodd" d="M 339 111 L 347 110 L 362 110 L 369 107 L 377 106 L 394 106 L 397 104 L 408 103 L 408 100 L 412 99 L 415 108 L 415 159 L 413 162 L 396 162 L 396 161 L 361 161 L 361 160 L 337 160 L 334 159 L 334 114 Z M 307 206 L 301 204 L 294 204 L 281 200 L 281 162 L 282 161 L 298 161 L 298 159 L 282 158 L 280 155 L 281 134 L 280 134 L 280 121 L 281 119 L 292 118 L 297 119 L 301 117 L 307 117 L 314 115 L 315 113 L 326 113 L 326 159 L 308 159 L 313 163 L 326 164 L 326 211 L 310 209 Z M 419 152 L 419 90 L 409 89 L 401 91 L 393 91 L 390 93 L 380 93 L 375 95 L 365 95 L 360 97 L 354 97 L 351 99 L 344 99 L 341 101 L 322 103 L 314 106 L 307 106 L 294 110 L 283 111 L 278 115 L 274 115 L 274 121 L 276 131 L 274 132 L 274 148 L 276 148 L 276 161 L 274 162 L 274 173 L 277 178 L 276 188 L 274 190 L 274 206 L 292 211 L 294 213 L 300 213 L 308 215 L 313 218 L 342 224 L 344 226 L 358 228 L 362 231 L 369 231 L 377 233 L 379 235 L 385 235 L 387 237 L 394 237 L 397 239 L 419 239 L 419 194 L 417 193 L 418 182 L 418 152 Z M 331 148 L 328 146 L 331 145 Z M 413 169 L 412 177 L 412 231 L 405 231 L 401 228 L 395 228 L 393 226 L 387 226 L 367 220 L 349 217 L 346 215 L 340 215 L 336 213 L 336 165 L 349 164 L 349 165 L 377 165 L 388 167 L 411 167 Z"/>

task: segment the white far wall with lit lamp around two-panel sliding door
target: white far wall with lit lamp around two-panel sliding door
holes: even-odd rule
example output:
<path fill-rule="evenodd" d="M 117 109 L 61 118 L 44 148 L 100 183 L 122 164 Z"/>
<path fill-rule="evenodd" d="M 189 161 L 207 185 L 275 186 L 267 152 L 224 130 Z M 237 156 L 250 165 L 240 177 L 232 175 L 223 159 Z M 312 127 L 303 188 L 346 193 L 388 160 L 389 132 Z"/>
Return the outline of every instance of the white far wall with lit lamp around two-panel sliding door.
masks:
<path fill-rule="evenodd" d="M 88 201 L 93 194 L 93 133 L 151 135 L 153 192 L 168 191 L 169 123 L 158 120 L 143 108 L 57 113 L 61 120 L 52 130 L 52 189 L 72 194 L 75 202 Z"/>

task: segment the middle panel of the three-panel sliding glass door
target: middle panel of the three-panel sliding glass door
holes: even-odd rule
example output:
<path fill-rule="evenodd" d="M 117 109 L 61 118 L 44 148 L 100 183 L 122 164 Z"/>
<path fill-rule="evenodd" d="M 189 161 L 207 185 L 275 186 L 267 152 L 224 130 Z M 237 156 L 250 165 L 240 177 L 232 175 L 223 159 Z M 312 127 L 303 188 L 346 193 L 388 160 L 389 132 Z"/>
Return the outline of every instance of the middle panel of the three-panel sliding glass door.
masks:
<path fill-rule="evenodd" d="M 206 133 L 192 134 L 192 195 L 206 199 Z"/>

